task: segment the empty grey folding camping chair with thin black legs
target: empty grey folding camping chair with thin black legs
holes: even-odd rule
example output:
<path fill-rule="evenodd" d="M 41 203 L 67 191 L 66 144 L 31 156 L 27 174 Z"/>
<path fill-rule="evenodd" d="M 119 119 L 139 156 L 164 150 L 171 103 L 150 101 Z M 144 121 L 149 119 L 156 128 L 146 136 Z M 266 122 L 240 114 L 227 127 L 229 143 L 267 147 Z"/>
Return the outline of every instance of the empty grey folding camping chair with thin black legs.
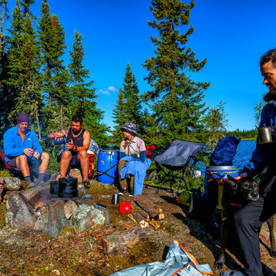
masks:
<path fill-rule="evenodd" d="M 175 140 L 172 142 L 170 147 L 165 150 L 161 155 L 155 157 L 155 164 L 157 164 L 161 170 L 165 173 L 164 181 L 161 183 L 159 188 L 157 189 L 156 193 L 159 193 L 161 186 L 165 183 L 166 179 L 169 179 L 170 182 L 170 191 L 174 198 L 177 197 L 180 185 L 182 181 L 184 182 L 186 189 L 186 177 L 184 173 L 188 167 L 188 164 L 192 160 L 192 171 L 195 168 L 195 164 L 197 162 L 197 158 L 195 154 L 201 150 L 205 146 L 205 143 L 197 143 L 191 141 L 182 141 L 182 140 Z M 165 168 L 167 170 L 165 170 Z M 181 177 L 175 174 L 176 171 L 181 170 L 182 174 Z M 180 182 L 177 186 L 177 193 L 176 196 L 173 195 L 172 185 L 175 184 L 175 179 L 180 179 Z"/>

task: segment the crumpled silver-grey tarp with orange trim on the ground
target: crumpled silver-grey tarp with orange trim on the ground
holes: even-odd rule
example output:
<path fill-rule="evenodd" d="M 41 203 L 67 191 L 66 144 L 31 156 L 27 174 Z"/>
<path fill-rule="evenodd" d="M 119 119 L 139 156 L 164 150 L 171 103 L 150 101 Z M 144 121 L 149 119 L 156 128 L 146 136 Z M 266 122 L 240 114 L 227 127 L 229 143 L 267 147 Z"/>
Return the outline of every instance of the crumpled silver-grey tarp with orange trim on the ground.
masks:
<path fill-rule="evenodd" d="M 208 264 L 199 264 L 197 259 L 173 240 L 163 262 L 141 264 L 113 273 L 110 276 L 199 276 L 214 275 Z"/>

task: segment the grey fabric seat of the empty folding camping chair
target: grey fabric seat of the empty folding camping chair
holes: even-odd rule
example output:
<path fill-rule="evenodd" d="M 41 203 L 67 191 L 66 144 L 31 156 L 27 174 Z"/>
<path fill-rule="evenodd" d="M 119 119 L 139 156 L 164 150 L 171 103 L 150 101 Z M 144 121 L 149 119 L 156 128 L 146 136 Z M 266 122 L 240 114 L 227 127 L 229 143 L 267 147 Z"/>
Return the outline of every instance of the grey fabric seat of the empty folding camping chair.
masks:
<path fill-rule="evenodd" d="M 183 167 L 188 157 L 195 155 L 204 146 L 204 143 L 175 140 L 167 150 L 155 157 L 155 161 L 167 168 Z"/>

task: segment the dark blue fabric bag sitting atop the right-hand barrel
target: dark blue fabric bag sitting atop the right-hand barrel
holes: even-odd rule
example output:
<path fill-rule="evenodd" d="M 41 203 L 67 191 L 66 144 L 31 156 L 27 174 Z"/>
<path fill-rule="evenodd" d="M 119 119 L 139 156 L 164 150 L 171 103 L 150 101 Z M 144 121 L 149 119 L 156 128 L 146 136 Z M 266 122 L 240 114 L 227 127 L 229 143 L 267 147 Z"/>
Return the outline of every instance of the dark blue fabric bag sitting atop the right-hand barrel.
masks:
<path fill-rule="evenodd" d="M 217 147 L 210 157 L 210 166 L 232 166 L 239 141 L 241 138 L 233 136 L 219 139 Z"/>

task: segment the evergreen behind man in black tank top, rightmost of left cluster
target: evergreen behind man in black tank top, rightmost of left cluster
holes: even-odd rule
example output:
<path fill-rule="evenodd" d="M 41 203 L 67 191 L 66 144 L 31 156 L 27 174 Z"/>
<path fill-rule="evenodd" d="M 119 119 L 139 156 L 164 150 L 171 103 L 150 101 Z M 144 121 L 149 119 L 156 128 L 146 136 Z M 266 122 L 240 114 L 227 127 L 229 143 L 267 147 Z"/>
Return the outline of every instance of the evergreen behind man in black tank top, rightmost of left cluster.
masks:
<path fill-rule="evenodd" d="M 83 126 L 90 132 L 92 139 L 98 143 L 106 141 L 107 126 L 101 123 L 103 112 L 97 108 L 96 89 L 92 88 L 94 81 L 89 79 L 89 70 L 83 66 L 84 47 L 82 35 L 75 30 L 75 37 L 70 52 L 70 113 L 83 117 Z"/>

